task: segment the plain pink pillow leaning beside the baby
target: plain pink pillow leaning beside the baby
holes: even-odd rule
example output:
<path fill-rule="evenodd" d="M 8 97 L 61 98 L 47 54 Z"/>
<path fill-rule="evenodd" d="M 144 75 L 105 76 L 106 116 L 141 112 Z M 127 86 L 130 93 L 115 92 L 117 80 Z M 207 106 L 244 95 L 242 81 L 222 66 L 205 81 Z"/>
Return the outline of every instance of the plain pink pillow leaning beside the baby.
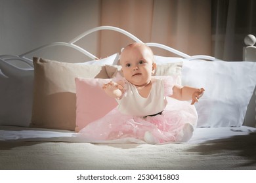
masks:
<path fill-rule="evenodd" d="M 75 131 L 79 131 L 90 122 L 105 116 L 117 106 L 116 99 L 106 95 L 102 85 L 112 79 L 75 78 L 76 119 Z"/>

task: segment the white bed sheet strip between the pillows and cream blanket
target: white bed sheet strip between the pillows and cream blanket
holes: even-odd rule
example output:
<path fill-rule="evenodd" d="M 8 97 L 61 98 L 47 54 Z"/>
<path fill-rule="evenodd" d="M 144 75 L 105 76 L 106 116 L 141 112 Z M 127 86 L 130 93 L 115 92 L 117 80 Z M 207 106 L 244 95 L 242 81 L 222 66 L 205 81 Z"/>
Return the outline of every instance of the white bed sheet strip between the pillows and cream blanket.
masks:
<path fill-rule="evenodd" d="M 207 141 L 228 139 L 238 135 L 249 135 L 255 133 L 256 128 L 241 127 L 200 127 L 196 128 L 194 135 L 189 142 L 185 143 L 203 143 Z M 16 126 L 1 126 L 0 141 L 20 140 L 20 141 L 54 141 L 54 142 L 88 142 L 83 138 L 76 137 L 77 133 L 67 130 L 40 129 Z M 94 142 L 97 144 L 114 144 L 114 143 L 144 143 L 136 139 L 123 139 L 115 141 Z"/>

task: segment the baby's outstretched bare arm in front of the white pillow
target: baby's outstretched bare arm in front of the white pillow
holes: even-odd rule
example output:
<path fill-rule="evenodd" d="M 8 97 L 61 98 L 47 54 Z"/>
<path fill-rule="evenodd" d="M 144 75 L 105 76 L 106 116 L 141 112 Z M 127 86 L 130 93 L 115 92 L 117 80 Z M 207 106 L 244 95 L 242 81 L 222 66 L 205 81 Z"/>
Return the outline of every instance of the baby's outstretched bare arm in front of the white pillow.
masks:
<path fill-rule="evenodd" d="M 173 97 L 180 101 L 189 101 L 192 99 L 191 105 L 198 102 L 198 99 L 202 97 L 204 92 L 203 88 L 192 88 L 189 86 L 174 86 L 173 87 Z"/>

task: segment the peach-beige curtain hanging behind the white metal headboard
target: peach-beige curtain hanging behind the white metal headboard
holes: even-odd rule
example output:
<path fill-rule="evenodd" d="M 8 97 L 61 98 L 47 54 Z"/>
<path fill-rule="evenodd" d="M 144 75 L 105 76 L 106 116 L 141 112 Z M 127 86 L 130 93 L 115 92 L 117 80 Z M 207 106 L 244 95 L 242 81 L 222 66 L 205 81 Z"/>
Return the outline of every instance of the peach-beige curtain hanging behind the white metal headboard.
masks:
<path fill-rule="evenodd" d="M 100 24 L 125 29 L 143 42 L 165 44 L 191 56 L 211 55 L 210 0 L 102 0 Z M 102 31 L 100 56 L 109 56 L 130 42 L 120 33 Z M 158 48 L 153 51 L 175 56 Z"/>

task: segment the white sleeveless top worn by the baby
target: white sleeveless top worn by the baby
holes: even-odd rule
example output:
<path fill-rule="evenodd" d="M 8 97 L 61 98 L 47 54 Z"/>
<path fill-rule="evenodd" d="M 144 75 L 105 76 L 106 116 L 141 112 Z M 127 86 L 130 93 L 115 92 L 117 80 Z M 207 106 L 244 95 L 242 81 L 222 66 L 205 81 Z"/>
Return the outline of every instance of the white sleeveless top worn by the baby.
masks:
<path fill-rule="evenodd" d="M 147 98 L 138 92 L 136 86 L 126 81 L 125 94 L 119 103 L 118 109 L 122 114 L 132 116 L 148 116 L 163 111 L 167 105 L 163 80 L 152 78 L 152 88 Z"/>

